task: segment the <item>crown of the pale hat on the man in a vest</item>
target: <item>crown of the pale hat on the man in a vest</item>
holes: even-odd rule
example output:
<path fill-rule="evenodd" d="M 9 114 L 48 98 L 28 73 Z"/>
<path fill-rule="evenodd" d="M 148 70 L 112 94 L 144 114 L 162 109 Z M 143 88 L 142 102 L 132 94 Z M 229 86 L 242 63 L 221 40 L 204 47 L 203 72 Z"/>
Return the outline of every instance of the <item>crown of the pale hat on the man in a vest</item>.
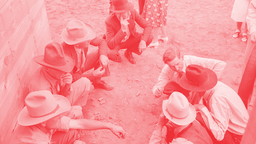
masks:
<path fill-rule="evenodd" d="M 189 113 L 188 99 L 179 92 L 173 92 L 167 101 L 168 113 L 175 118 L 185 118 Z"/>

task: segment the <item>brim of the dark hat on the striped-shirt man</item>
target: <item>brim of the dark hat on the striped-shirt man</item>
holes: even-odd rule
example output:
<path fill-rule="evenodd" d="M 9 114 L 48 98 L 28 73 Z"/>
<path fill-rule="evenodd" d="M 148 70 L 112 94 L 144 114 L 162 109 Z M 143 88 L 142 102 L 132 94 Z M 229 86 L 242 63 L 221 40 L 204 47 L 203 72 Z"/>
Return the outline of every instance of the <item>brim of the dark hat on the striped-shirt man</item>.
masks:
<path fill-rule="evenodd" d="M 184 89 L 187 89 L 189 91 L 207 91 L 209 89 L 212 89 L 213 87 L 215 87 L 215 85 L 217 85 L 218 82 L 218 77 L 215 74 L 215 72 L 213 72 L 212 70 L 210 70 L 209 68 L 205 68 L 207 74 L 208 74 L 208 79 L 209 82 L 205 85 L 192 85 L 190 84 L 187 79 L 186 79 L 186 73 L 180 78 L 180 86 Z"/>

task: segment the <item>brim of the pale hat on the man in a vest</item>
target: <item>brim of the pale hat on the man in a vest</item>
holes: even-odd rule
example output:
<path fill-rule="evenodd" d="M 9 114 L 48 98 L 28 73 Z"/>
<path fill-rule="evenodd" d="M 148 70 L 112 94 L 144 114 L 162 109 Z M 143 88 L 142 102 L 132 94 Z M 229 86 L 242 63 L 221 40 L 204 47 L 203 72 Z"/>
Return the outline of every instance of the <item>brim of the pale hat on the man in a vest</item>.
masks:
<path fill-rule="evenodd" d="M 190 103 L 189 103 L 189 113 L 188 113 L 188 116 L 186 118 L 184 118 L 184 119 L 177 119 L 177 118 L 173 118 L 172 116 L 170 116 L 168 114 L 168 112 L 166 112 L 166 110 L 167 110 L 167 102 L 168 102 L 168 99 L 163 101 L 163 105 L 162 105 L 163 112 L 165 114 L 165 117 L 168 118 L 168 120 L 170 120 L 174 124 L 177 124 L 177 125 L 180 125 L 180 126 L 184 126 L 184 125 L 190 124 L 191 122 L 193 122 L 195 120 L 196 111 L 195 111 L 195 108 L 193 107 L 193 105 L 191 105 Z"/>

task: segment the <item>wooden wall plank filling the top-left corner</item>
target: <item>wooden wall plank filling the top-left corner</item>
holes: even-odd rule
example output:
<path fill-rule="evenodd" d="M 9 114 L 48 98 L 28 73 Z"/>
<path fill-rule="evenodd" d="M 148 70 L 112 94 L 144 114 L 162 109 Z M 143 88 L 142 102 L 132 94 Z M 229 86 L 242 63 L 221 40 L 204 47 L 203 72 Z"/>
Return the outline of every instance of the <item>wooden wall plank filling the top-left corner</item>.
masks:
<path fill-rule="evenodd" d="M 5 45 L 9 45 L 14 39 L 24 21 L 30 15 L 32 8 L 35 7 L 38 0 L 7 1 L 0 9 L 0 56 L 6 49 Z M 39 2 L 42 3 L 40 0 Z M 6 47 L 6 46 L 5 46 Z"/>

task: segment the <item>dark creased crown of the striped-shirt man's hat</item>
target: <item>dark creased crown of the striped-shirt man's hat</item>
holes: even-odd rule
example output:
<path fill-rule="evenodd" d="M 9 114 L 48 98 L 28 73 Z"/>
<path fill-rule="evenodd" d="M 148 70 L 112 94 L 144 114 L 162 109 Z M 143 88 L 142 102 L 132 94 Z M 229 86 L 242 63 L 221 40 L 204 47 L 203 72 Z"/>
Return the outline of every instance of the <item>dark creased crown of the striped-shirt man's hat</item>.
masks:
<path fill-rule="evenodd" d="M 192 85 L 204 85 L 209 81 L 207 71 L 203 66 L 190 64 L 186 68 L 186 79 Z"/>

